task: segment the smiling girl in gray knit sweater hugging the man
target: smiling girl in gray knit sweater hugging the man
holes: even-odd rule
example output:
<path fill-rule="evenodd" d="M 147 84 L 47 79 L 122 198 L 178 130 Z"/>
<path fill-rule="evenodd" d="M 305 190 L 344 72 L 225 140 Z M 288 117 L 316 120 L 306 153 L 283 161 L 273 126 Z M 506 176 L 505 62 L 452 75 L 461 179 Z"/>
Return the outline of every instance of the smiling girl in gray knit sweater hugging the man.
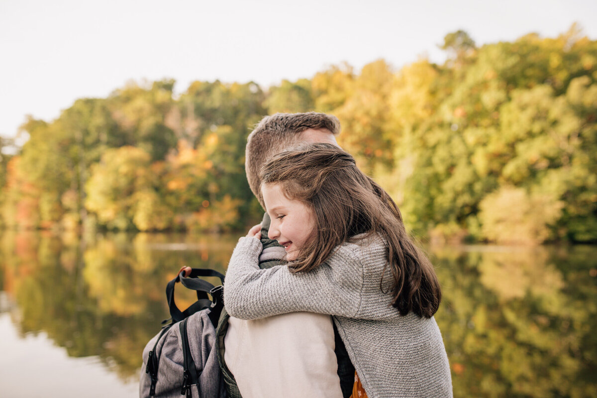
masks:
<path fill-rule="evenodd" d="M 451 397 L 448 357 L 433 319 L 439 283 L 389 195 L 331 144 L 274 156 L 261 180 L 269 237 L 284 246 L 289 263 L 259 269 L 259 226 L 253 227 L 230 258 L 228 313 L 331 314 L 368 397 Z"/>

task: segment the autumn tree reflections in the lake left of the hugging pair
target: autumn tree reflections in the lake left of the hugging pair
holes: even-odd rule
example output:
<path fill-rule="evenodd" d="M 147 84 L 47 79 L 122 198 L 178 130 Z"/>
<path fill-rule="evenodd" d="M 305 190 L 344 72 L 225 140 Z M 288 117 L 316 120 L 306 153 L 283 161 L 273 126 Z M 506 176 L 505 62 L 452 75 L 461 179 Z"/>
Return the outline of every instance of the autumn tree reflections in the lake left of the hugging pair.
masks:
<path fill-rule="evenodd" d="M 173 241 L 178 250 L 164 250 Z M 69 356 L 97 355 L 122 378 L 136 377 L 144 345 L 168 317 L 167 281 L 182 266 L 224 270 L 235 241 L 118 234 L 83 245 L 72 236 L 7 233 L 0 287 L 17 302 L 21 334 L 43 330 Z M 178 289 L 180 307 L 194 300 Z"/>

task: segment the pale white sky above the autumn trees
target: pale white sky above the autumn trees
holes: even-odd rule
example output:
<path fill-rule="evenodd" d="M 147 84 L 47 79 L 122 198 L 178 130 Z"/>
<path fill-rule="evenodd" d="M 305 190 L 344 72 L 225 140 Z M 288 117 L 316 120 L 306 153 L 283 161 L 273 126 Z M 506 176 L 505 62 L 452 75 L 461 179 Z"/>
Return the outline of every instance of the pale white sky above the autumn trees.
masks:
<path fill-rule="evenodd" d="M 266 88 L 343 61 L 443 62 L 437 46 L 458 29 L 482 45 L 555 37 L 575 21 L 597 39 L 597 1 L 0 0 L 0 135 L 130 79 Z"/>

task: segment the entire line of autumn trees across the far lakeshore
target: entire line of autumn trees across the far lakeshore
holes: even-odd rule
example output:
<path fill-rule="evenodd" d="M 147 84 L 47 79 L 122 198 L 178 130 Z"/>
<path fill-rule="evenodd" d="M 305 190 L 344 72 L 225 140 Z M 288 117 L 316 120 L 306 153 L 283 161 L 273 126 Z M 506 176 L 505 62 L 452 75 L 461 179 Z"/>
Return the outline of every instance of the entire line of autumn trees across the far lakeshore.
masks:
<path fill-rule="evenodd" d="M 259 219 L 244 175 L 263 115 L 338 116 L 339 143 L 433 240 L 597 241 L 597 41 L 576 26 L 476 47 L 445 36 L 443 65 L 331 66 L 257 84 L 131 83 L 75 101 L 2 159 L 8 228 L 229 230 Z"/>

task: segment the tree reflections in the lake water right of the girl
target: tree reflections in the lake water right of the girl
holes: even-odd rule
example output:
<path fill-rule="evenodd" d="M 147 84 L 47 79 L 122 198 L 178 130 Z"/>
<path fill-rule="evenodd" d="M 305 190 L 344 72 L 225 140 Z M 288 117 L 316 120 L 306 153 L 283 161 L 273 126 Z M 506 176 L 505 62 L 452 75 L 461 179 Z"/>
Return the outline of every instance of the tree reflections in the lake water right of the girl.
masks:
<path fill-rule="evenodd" d="M 435 251 L 455 396 L 597 396 L 595 254 Z"/>

